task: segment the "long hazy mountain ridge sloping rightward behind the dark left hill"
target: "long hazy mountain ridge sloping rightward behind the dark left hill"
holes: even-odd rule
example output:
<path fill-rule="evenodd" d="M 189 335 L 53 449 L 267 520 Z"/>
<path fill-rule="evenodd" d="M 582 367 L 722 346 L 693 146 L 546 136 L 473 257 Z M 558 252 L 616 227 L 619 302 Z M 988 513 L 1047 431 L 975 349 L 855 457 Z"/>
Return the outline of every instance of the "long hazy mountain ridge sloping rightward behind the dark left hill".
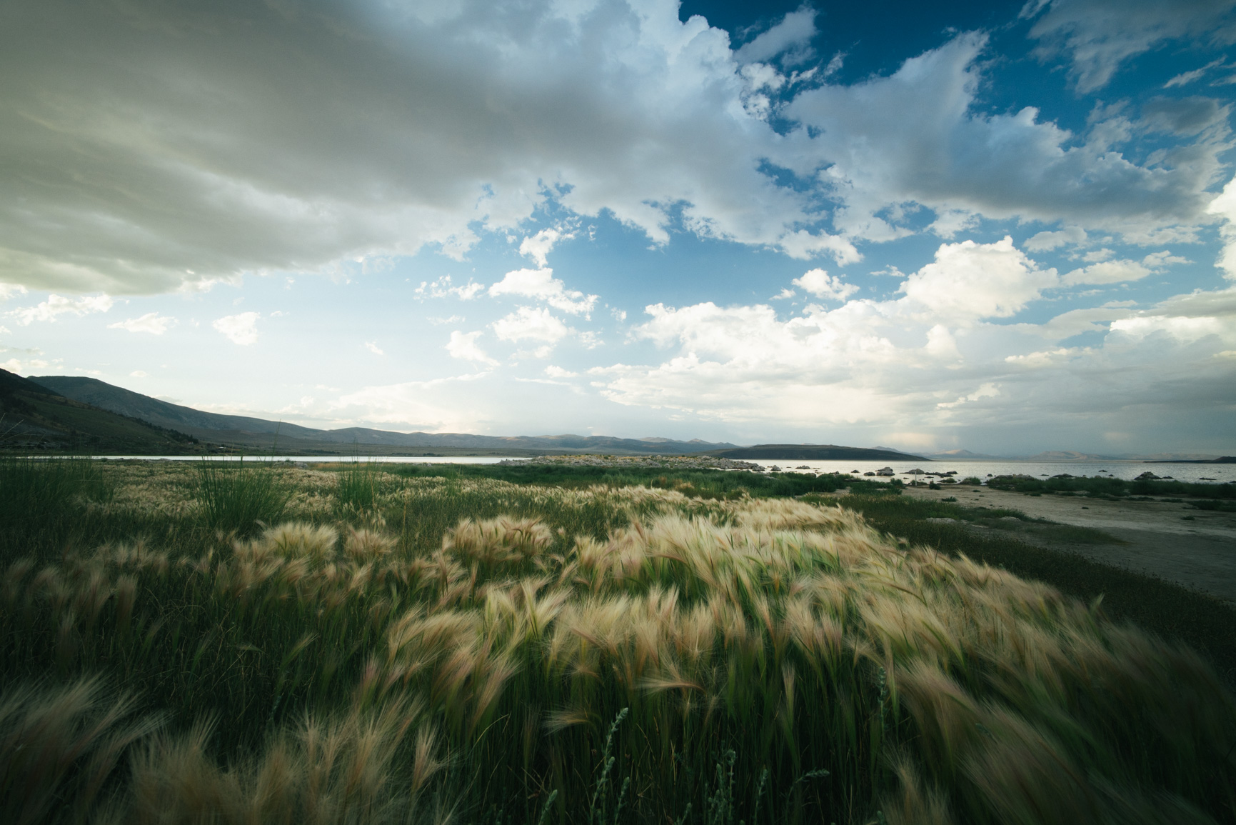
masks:
<path fill-rule="evenodd" d="M 131 416 L 158 427 L 188 433 L 214 443 L 239 444 L 248 448 L 272 449 L 281 453 L 303 450 L 311 453 L 340 453 L 349 448 L 382 448 L 424 451 L 485 450 L 487 453 L 706 453 L 732 449 L 729 443 L 716 444 L 692 439 L 677 442 L 667 438 L 612 438 L 608 435 L 471 435 L 467 433 L 397 433 L 366 427 L 342 429 L 314 429 L 298 424 L 279 423 L 250 416 L 222 416 L 203 412 L 193 407 L 168 403 L 140 392 L 112 386 L 98 378 L 80 376 L 32 376 L 31 382 L 57 392 L 67 398 L 99 407 L 122 416 Z"/>

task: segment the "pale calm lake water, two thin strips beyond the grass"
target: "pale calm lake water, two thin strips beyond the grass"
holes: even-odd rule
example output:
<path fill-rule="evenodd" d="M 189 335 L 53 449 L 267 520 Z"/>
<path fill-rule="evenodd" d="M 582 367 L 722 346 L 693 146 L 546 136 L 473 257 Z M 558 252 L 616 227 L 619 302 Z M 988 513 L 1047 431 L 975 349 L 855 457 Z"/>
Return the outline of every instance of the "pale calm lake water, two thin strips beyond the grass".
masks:
<path fill-rule="evenodd" d="M 197 455 L 106 455 L 98 458 L 108 459 L 136 459 L 147 461 L 200 461 Z M 517 458 L 517 456 L 513 456 Z M 211 460 L 240 460 L 236 456 L 219 456 Z M 246 461 L 265 461 L 261 456 L 246 456 Z M 292 455 L 279 456 L 276 461 L 355 461 L 352 456 L 341 455 Z M 503 461 L 501 455 L 486 456 L 459 456 L 459 455 L 379 455 L 375 458 L 362 458 L 362 461 L 376 464 L 497 464 Z M 815 472 L 849 472 L 858 470 L 870 472 L 880 468 L 891 466 L 897 471 L 897 477 L 910 480 L 913 476 L 906 475 L 907 470 L 920 469 L 927 472 L 947 472 L 957 470 L 957 477 L 988 475 L 1032 475 L 1047 477 L 1060 472 L 1070 475 L 1105 475 L 1114 479 L 1135 479 L 1149 470 L 1154 475 L 1172 476 L 1178 481 L 1236 481 L 1236 464 L 1148 464 L 1146 461 L 759 461 L 765 469 L 780 466 L 782 470 L 796 470 L 806 466 Z"/>

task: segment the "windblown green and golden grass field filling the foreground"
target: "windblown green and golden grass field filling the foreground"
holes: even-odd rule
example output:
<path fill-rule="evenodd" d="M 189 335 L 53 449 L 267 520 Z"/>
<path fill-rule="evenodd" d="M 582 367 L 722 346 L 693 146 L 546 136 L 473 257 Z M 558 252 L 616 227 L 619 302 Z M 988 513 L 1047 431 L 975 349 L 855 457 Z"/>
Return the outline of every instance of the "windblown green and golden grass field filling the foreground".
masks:
<path fill-rule="evenodd" d="M 5 821 L 1236 821 L 1183 601 L 827 479 L 530 470 L 0 460 Z"/>

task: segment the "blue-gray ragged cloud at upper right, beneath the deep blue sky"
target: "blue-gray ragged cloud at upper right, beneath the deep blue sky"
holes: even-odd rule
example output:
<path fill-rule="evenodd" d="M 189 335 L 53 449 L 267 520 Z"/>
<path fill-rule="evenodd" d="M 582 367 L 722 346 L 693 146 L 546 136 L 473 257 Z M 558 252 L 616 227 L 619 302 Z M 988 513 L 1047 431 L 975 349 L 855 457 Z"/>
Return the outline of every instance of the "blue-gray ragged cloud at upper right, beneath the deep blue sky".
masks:
<path fill-rule="evenodd" d="M 806 89 L 786 105 L 810 135 L 798 136 L 785 165 L 801 174 L 827 168 L 819 177 L 840 202 L 833 224 L 843 235 L 912 234 L 896 219 L 908 214 L 904 204 L 942 218 L 1063 220 L 1131 239 L 1201 219 L 1225 141 L 1199 141 L 1187 161 L 1172 155 L 1164 166 L 1140 166 L 1115 148 L 1117 137 L 1127 139 L 1107 122 L 1115 115 L 1075 135 L 1041 120 L 1033 106 L 984 114 L 975 98 L 986 48 L 985 35 L 959 35 L 889 77 Z M 1180 162 L 1173 166 L 1173 157 Z M 939 234 L 957 225 L 946 220 Z"/>

